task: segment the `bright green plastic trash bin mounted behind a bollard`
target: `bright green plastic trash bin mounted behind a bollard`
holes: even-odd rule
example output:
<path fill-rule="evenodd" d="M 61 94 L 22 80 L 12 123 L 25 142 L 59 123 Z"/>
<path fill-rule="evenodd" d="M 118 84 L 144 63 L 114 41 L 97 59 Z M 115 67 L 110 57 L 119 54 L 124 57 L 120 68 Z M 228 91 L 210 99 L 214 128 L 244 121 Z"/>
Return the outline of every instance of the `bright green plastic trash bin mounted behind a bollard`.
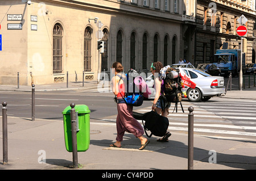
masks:
<path fill-rule="evenodd" d="M 77 151 L 86 151 L 90 144 L 90 110 L 88 106 L 80 104 L 75 106 L 77 125 Z M 71 107 L 62 112 L 64 123 L 64 137 L 67 151 L 72 152 Z"/>

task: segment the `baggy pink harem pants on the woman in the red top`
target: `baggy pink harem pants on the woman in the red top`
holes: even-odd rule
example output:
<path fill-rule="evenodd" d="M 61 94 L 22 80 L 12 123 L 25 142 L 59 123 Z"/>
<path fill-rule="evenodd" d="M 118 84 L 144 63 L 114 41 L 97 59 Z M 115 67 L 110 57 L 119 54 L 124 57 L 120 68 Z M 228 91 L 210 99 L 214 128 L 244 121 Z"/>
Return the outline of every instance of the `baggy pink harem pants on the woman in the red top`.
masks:
<path fill-rule="evenodd" d="M 142 125 L 133 117 L 133 106 L 117 104 L 117 141 L 123 141 L 125 131 L 140 137 L 144 134 Z"/>

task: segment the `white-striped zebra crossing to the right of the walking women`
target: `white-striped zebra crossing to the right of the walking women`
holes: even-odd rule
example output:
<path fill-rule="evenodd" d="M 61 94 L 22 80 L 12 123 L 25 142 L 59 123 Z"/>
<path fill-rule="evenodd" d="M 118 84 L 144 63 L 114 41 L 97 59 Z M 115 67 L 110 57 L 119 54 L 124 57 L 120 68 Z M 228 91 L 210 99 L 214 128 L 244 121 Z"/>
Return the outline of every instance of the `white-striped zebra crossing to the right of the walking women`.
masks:
<path fill-rule="evenodd" d="M 256 105 L 253 100 L 212 98 L 208 102 L 182 102 L 184 113 L 178 104 L 178 111 L 172 113 L 170 107 L 168 119 L 172 132 L 188 132 L 188 107 L 192 106 L 194 134 L 209 136 L 256 138 Z M 137 112 L 151 111 L 151 107 Z"/>

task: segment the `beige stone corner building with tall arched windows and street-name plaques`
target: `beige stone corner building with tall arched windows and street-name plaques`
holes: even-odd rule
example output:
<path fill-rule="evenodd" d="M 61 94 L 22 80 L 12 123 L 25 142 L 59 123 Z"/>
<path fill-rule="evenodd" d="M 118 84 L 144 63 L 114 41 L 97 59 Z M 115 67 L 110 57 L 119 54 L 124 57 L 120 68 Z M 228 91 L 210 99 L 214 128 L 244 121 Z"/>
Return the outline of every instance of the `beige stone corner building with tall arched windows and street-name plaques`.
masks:
<path fill-rule="evenodd" d="M 114 61 L 150 70 L 184 56 L 184 22 L 195 0 L 2 0 L 0 84 L 97 79 Z M 95 23 L 94 23 L 95 22 Z M 190 32 L 189 32 L 190 33 Z M 192 35 L 186 34 L 191 37 Z M 104 41 L 104 53 L 97 41 Z M 192 44 L 189 49 L 192 49 Z M 186 48 L 187 50 L 187 48 Z M 192 50 L 187 50 L 192 57 Z"/>

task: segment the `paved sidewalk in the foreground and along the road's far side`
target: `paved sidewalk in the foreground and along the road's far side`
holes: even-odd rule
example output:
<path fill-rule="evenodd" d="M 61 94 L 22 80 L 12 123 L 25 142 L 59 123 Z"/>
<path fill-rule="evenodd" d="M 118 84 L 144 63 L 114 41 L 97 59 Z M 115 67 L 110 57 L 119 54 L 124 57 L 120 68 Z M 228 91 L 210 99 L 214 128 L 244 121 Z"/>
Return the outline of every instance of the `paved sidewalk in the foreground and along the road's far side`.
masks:
<path fill-rule="evenodd" d="M 50 85 L 36 85 L 36 91 L 86 90 L 97 87 L 97 81 L 71 82 Z M 0 85 L 1 91 L 31 91 L 31 86 Z M 243 91 L 228 91 L 223 98 L 256 99 L 256 88 Z M 1 118 L 2 120 L 2 118 Z M 94 123 L 93 123 L 94 122 Z M 0 124 L 2 132 L 2 124 Z M 115 123 L 102 124 L 97 120 L 90 123 L 90 147 L 79 152 L 81 170 L 187 170 L 188 134 L 174 132 L 169 142 L 157 142 L 151 137 L 144 150 L 138 150 L 140 141 L 133 134 L 126 133 L 123 148 L 109 148 L 116 137 Z M 0 134 L 2 140 L 2 134 Z M 194 135 L 193 169 L 256 169 L 256 139 L 232 139 Z M 2 141 L 0 141 L 2 148 Z M 216 162 L 214 162 L 214 150 Z M 0 149 L 2 156 L 2 149 Z M 210 159 L 209 159 L 210 158 Z M 63 121 L 8 117 L 8 164 L 0 170 L 13 169 L 72 169 L 72 153 L 65 149 Z"/>

